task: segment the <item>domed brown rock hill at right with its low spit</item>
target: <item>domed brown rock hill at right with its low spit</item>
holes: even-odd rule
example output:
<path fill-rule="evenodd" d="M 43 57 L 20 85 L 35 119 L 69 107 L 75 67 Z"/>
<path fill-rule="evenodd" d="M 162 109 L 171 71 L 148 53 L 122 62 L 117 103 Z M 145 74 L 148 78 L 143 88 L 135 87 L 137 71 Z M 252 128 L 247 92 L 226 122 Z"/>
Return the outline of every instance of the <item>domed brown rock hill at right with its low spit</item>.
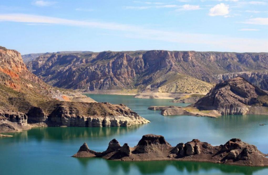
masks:
<path fill-rule="evenodd" d="M 242 77 L 218 83 L 206 96 L 187 107 L 150 106 L 162 115 L 193 115 L 217 117 L 220 115 L 268 114 L 268 92 L 252 85 Z"/>

